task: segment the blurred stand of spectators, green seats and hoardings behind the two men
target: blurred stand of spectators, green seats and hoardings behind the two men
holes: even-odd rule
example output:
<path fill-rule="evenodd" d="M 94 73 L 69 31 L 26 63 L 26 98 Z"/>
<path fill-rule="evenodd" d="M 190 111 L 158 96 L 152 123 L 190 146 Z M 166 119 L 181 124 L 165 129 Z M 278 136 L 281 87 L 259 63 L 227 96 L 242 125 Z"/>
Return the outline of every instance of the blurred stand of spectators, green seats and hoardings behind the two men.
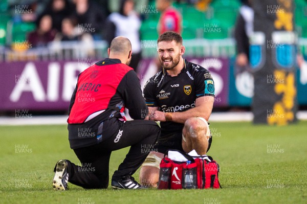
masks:
<path fill-rule="evenodd" d="M 182 34 L 184 58 L 208 69 L 215 81 L 213 111 L 250 110 L 253 75 L 238 69 L 236 33 L 249 6 L 239 0 L 0 0 L 0 116 L 65 115 L 77 76 L 107 57 L 109 42 L 124 35 L 133 44 L 131 66 L 142 86 L 157 66 L 157 38 Z M 272 8 L 269 8 L 272 9 Z M 294 1 L 296 84 L 307 107 L 307 1 Z M 244 16 L 244 15 L 243 15 Z M 267 49 L 271 49 L 267 47 Z"/>

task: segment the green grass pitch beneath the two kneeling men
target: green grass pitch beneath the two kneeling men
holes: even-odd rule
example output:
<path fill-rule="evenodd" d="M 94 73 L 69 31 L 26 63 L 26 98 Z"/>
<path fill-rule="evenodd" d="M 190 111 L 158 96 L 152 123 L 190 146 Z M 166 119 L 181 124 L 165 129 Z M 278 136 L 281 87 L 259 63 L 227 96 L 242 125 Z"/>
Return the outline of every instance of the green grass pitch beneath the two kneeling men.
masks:
<path fill-rule="evenodd" d="M 307 203 L 307 121 L 210 127 L 208 154 L 221 166 L 223 189 L 84 190 L 70 184 L 69 191 L 57 192 L 51 185 L 56 161 L 79 162 L 66 126 L 0 126 L 0 203 Z M 111 174 L 127 150 L 112 154 Z"/>

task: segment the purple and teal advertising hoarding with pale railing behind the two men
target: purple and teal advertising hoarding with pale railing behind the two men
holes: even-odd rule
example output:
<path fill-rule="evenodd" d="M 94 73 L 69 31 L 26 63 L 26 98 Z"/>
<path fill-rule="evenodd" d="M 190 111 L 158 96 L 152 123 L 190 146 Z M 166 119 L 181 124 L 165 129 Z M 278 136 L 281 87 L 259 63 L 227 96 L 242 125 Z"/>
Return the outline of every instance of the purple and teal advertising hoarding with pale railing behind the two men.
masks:
<path fill-rule="evenodd" d="M 300 42 L 302 43 L 303 40 Z M 185 41 L 185 58 L 208 69 L 215 81 L 215 107 L 250 106 L 253 96 L 253 77 L 247 72 L 234 74 L 235 43 L 233 40 L 203 41 L 196 47 L 196 40 Z M 307 41 L 300 44 L 307 47 Z M 50 45 L 51 46 L 51 45 Z M 54 46 L 54 45 L 53 45 Z M 58 46 L 58 45 L 57 45 Z M 94 44 L 94 55 L 84 53 L 84 47 L 63 44 L 60 49 L 30 49 L 16 57 L 14 51 L 1 50 L 0 62 L 0 111 L 27 110 L 67 110 L 69 100 L 76 85 L 77 76 L 86 67 L 106 57 L 106 43 Z M 146 50 L 147 49 L 147 50 Z M 148 69 L 155 67 L 156 48 L 144 48 L 144 58 L 139 67 L 140 81 Z M 203 56 L 193 52 L 203 50 Z M 55 52 L 55 50 L 57 52 Z M 155 50 L 155 55 L 149 53 Z M 302 51 L 306 51 L 301 49 Z M 10 53 L 12 52 L 12 53 Z M 96 53 L 97 52 L 97 53 Z M 210 56 L 211 55 L 211 56 Z M 31 58 L 31 56 L 35 56 Z M 212 57 L 213 56 L 213 57 Z M 307 85 L 299 80 L 297 71 L 298 102 L 307 105 Z M 91 96 L 86 100 L 94 100 Z"/>

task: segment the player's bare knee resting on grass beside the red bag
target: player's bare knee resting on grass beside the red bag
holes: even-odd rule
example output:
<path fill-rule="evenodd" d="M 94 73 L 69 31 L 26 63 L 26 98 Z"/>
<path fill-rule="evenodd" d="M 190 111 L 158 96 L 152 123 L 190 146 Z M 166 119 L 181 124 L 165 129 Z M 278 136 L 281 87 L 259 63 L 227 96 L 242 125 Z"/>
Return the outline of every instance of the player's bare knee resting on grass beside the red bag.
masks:
<path fill-rule="evenodd" d="M 143 166 L 140 170 L 140 184 L 147 188 L 156 188 L 159 182 L 157 167 Z"/>

